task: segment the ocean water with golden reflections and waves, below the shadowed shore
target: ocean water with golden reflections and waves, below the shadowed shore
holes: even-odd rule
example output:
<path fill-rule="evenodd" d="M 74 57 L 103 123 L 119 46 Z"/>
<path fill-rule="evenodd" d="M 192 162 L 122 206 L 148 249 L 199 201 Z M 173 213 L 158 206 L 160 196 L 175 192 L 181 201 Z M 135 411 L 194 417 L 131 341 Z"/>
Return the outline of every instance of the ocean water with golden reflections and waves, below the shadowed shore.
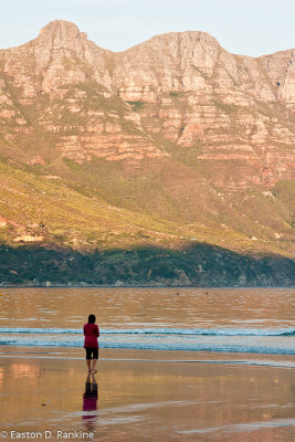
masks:
<path fill-rule="evenodd" d="M 295 355 L 293 288 L 2 288 L 0 345 Z"/>

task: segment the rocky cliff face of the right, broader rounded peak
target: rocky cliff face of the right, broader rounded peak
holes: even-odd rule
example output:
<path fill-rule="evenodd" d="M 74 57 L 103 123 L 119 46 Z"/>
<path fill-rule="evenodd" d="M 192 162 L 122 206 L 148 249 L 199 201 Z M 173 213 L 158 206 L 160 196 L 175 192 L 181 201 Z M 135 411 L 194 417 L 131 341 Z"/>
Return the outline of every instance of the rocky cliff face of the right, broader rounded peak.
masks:
<path fill-rule="evenodd" d="M 199 147 L 198 159 L 218 169 L 214 183 L 273 186 L 292 175 L 294 55 L 239 56 L 208 34 L 170 33 L 118 54 L 114 83 L 143 103 L 147 130 Z"/>

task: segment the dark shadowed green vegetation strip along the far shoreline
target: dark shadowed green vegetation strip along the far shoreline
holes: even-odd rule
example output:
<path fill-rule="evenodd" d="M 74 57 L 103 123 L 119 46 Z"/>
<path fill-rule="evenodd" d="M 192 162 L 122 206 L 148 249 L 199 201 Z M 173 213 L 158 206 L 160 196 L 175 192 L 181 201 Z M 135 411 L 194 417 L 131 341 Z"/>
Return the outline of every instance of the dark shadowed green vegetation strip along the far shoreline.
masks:
<path fill-rule="evenodd" d="M 88 253 L 0 246 L 1 284 L 288 286 L 294 274 L 292 260 L 246 256 L 206 243 L 181 250 L 139 246 Z"/>

